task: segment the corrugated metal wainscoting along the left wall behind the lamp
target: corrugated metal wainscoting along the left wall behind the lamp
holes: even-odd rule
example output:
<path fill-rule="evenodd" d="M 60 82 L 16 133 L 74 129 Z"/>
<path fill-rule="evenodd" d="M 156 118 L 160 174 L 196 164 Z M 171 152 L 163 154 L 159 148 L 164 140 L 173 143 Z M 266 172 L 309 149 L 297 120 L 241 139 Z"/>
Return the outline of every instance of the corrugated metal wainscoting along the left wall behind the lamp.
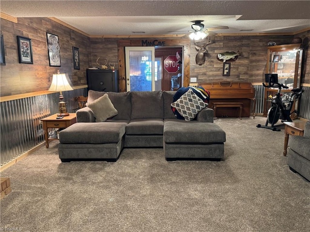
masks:
<path fill-rule="evenodd" d="M 78 103 L 74 98 L 87 96 L 87 88 L 62 92 L 68 102 L 67 111 L 74 113 Z M 0 102 L 1 159 L 3 165 L 45 141 L 40 119 L 58 112 L 59 93 L 52 93 L 13 101 Z"/>

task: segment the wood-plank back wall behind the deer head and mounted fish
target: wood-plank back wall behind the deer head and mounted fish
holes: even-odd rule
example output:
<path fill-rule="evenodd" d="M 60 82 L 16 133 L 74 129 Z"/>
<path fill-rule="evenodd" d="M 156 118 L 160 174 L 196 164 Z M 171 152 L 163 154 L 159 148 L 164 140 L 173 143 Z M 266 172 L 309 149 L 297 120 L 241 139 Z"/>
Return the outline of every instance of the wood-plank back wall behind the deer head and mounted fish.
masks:
<path fill-rule="evenodd" d="M 190 77 L 198 82 L 214 81 L 262 82 L 266 73 L 267 43 L 288 44 L 293 36 L 215 36 L 214 43 L 207 45 L 205 63 L 199 66 L 195 62 L 197 51 L 191 45 Z M 222 76 L 223 61 L 217 60 L 222 52 L 240 52 L 237 60 L 231 62 L 230 76 Z"/>

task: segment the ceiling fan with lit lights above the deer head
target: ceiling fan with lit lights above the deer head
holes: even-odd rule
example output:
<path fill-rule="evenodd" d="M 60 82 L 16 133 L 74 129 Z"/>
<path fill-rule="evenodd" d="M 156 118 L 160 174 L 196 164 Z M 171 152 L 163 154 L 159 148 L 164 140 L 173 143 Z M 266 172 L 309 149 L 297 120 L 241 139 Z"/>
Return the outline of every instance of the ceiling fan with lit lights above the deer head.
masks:
<path fill-rule="evenodd" d="M 195 20 L 191 21 L 194 24 L 192 24 L 193 31 L 190 30 L 178 30 L 178 31 L 169 31 L 169 32 L 189 32 L 183 37 L 189 35 L 189 38 L 191 39 L 203 39 L 208 35 L 217 35 L 216 32 L 213 32 L 214 30 L 221 30 L 221 29 L 229 29 L 229 27 L 213 27 L 213 28 L 204 28 L 204 24 L 202 24 L 203 20 Z"/>

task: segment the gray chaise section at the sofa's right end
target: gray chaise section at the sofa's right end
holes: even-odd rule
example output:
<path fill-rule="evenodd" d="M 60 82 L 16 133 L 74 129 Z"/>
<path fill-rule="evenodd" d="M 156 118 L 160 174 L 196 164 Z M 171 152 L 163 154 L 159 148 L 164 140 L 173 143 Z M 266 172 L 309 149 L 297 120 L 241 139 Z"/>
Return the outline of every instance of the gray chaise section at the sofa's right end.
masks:
<path fill-rule="evenodd" d="M 167 119 L 163 140 L 166 160 L 224 157 L 225 131 L 212 122 Z"/>

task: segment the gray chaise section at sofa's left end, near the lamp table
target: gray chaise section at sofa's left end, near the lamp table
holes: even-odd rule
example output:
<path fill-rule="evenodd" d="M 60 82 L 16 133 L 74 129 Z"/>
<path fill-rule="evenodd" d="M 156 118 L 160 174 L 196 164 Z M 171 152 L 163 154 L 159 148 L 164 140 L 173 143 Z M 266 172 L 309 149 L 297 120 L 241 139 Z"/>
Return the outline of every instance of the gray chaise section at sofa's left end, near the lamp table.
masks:
<path fill-rule="evenodd" d="M 123 149 L 126 122 L 78 122 L 60 131 L 58 152 L 71 160 L 116 161 Z"/>

